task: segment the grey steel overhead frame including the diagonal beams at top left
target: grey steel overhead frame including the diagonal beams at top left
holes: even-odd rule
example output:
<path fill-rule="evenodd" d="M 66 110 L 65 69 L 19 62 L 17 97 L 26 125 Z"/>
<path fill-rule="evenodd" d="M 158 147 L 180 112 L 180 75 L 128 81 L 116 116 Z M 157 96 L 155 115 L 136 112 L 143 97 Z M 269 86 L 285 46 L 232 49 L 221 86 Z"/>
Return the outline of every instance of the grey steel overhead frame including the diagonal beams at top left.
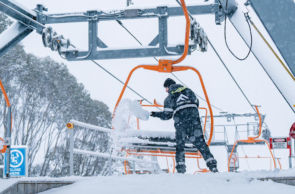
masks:
<path fill-rule="evenodd" d="M 223 11 L 220 10 L 220 2 L 218 0 L 214 0 L 214 3 L 188 3 L 187 9 L 193 15 L 215 14 L 216 24 L 220 24 L 221 18 L 224 16 Z M 175 5 L 170 4 L 169 6 L 149 6 L 148 8 L 137 7 L 137 9 L 130 9 L 128 7 L 122 10 L 108 10 L 105 12 L 102 10 L 87 10 L 76 12 L 73 11 L 72 13 L 65 12 L 54 14 L 47 12 L 47 10 L 42 5 L 37 5 L 35 10 L 30 10 L 15 0 L 0 0 L 0 11 L 16 19 L 19 23 L 17 26 L 18 34 L 14 37 L 11 37 L 11 40 L 6 42 L 6 44 L 0 44 L 0 56 L 20 42 L 32 30 L 36 30 L 38 34 L 42 34 L 45 24 L 67 22 L 89 23 L 88 51 L 82 51 L 81 49 L 76 49 L 73 47 L 61 49 L 61 53 L 64 54 L 65 58 L 69 61 L 174 56 L 181 55 L 184 51 L 184 45 L 168 46 L 167 18 L 184 15 L 182 8 L 176 3 Z M 108 46 L 97 37 L 98 22 L 100 21 L 140 18 L 158 18 L 159 34 L 151 41 L 149 45 L 111 49 L 108 48 Z M 16 26 L 14 26 L 14 28 L 16 28 Z M 14 29 L 10 27 L 7 29 L 6 34 L 10 33 L 12 30 Z M 1 37 L 4 37 L 4 35 L 0 35 L 0 39 Z M 188 54 L 190 54 L 191 50 L 194 48 L 195 44 L 191 42 L 189 45 Z"/>

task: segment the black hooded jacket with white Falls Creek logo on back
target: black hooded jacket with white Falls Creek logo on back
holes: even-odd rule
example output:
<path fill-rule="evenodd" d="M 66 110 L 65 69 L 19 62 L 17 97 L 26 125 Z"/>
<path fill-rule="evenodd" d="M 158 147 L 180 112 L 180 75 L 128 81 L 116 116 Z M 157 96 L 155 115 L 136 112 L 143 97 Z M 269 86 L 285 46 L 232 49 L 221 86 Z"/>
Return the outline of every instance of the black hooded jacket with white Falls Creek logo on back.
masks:
<path fill-rule="evenodd" d="M 168 94 L 164 101 L 164 111 L 155 112 L 155 117 L 161 120 L 169 120 L 173 117 L 174 121 L 178 122 L 192 116 L 196 117 L 195 119 L 200 123 L 199 100 L 191 89 L 180 84 L 172 84 Z"/>

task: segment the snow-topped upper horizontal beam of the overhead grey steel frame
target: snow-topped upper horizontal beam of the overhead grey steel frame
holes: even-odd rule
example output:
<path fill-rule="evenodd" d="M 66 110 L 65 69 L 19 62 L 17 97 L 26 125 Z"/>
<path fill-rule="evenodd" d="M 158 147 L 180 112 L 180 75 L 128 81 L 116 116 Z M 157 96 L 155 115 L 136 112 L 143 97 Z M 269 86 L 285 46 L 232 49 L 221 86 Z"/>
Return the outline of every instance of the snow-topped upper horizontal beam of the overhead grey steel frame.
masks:
<path fill-rule="evenodd" d="M 149 6 L 151 7 L 151 6 Z M 132 7 L 131 7 L 132 8 Z M 98 21 L 109 21 L 109 20 L 123 20 L 123 19 L 139 19 L 139 18 L 157 18 L 159 15 L 166 17 L 174 17 L 174 16 L 184 16 L 182 7 L 175 3 L 175 6 L 156 6 L 152 8 L 146 7 L 136 7 L 136 9 L 131 9 L 127 7 L 122 10 L 93 10 L 96 11 L 98 16 Z M 187 10 L 192 15 L 200 15 L 200 14 L 215 14 L 219 11 L 219 1 L 215 0 L 215 3 L 210 2 L 197 2 L 197 3 L 187 3 Z M 106 13 L 108 12 L 108 13 Z M 112 14 L 121 15 L 117 17 L 110 17 Z M 38 21 L 40 23 L 45 24 L 53 24 L 53 23 L 69 23 L 69 22 L 89 22 L 89 11 L 73 11 L 73 13 L 65 12 L 55 14 L 54 12 L 44 12 L 39 13 L 42 15 L 40 19 L 42 21 Z M 219 19 L 219 16 L 216 16 L 216 19 Z"/>

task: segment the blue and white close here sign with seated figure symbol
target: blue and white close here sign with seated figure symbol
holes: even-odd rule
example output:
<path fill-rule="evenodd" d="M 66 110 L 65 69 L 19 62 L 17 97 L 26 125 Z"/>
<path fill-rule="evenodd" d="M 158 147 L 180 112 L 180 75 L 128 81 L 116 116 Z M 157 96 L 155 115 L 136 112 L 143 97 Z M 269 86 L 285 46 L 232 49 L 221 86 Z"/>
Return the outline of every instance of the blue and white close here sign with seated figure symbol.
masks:
<path fill-rule="evenodd" d="M 10 150 L 10 176 L 21 177 L 27 176 L 27 146 L 11 146 Z M 6 156 L 4 158 L 4 172 L 6 172 Z"/>

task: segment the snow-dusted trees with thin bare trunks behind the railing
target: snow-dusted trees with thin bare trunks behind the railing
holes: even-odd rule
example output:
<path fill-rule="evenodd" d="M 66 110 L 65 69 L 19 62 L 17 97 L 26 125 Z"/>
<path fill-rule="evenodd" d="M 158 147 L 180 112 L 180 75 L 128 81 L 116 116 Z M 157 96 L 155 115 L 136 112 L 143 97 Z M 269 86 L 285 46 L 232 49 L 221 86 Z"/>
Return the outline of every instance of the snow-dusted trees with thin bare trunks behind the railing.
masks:
<path fill-rule="evenodd" d="M 0 32 L 11 25 L 0 14 Z M 41 38 L 41 37 L 40 37 Z M 29 176 L 69 175 L 70 119 L 108 127 L 108 107 L 90 98 L 90 94 L 69 73 L 66 65 L 50 57 L 25 53 L 22 44 L 0 57 L 0 78 L 13 111 L 14 145 L 29 147 Z M 0 97 L 0 137 L 6 134 L 6 102 Z M 107 134 L 75 127 L 76 148 L 107 152 Z M 106 175 L 104 158 L 74 155 L 74 173 L 81 176 Z M 114 163 L 116 165 L 116 163 Z"/>

